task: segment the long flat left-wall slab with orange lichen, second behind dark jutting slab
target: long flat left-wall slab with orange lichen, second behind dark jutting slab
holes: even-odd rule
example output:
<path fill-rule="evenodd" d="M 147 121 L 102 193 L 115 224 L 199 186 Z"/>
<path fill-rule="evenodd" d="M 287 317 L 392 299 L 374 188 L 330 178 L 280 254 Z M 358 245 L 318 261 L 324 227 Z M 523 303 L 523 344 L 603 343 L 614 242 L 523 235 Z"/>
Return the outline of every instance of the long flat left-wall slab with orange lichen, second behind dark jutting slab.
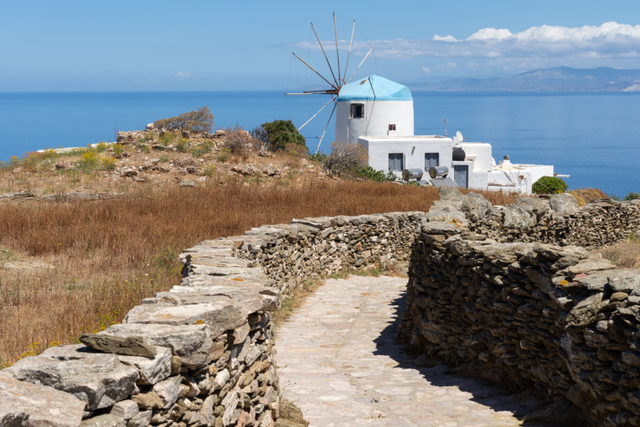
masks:
<path fill-rule="evenodd" d="M 124 321 L 127 323 L 158 323 L 164 325 L 209 325 L 211 336 L 217 337 L 246 322 L 247 313 L 231 302 L 208 302 L 192 305 L 137 305 Z"/>

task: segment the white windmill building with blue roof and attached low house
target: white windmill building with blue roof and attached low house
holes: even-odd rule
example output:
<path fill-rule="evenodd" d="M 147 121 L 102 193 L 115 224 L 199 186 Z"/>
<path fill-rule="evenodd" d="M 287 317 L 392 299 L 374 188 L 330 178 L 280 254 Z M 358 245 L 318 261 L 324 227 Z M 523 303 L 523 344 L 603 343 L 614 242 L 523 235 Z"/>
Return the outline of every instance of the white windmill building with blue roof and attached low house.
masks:
<path fill-rule="evenodd" d="M 361 144 L 373 169 L 398 177 L 403 169 L 421 169 L 428 178 L 431 167 L 446 166 L 457 186 L 523 194 L 541 176 L 553 176 L 553 166 L 508 159 L 496 165 L 491 144 L 414 135 L 411 91 L 378 75 L 343 85 L 336 102 L 336 142 Z"/>

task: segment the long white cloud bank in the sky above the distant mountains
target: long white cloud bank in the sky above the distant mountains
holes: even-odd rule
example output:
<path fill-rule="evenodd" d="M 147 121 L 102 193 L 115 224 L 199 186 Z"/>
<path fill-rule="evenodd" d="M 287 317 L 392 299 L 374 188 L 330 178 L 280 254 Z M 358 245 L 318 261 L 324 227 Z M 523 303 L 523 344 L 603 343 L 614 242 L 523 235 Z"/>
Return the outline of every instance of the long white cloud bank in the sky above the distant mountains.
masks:
<path fill-rule="evenodd" d="M 339 44 L 348 48 L 346 41 Z M 307 42 L 296 46 L 319 48 L 317 43 Z M 366 52 L 369 46 L 375 46 L 378 58 L 640 58 L 640 25 L 616 22 L 581 27 L 543 25 L 516 33 L 506 28 L 481 28 L 464 39 L 435 35 L 430 40 L 353 42 L 353 48 L 360 51 Z"/>

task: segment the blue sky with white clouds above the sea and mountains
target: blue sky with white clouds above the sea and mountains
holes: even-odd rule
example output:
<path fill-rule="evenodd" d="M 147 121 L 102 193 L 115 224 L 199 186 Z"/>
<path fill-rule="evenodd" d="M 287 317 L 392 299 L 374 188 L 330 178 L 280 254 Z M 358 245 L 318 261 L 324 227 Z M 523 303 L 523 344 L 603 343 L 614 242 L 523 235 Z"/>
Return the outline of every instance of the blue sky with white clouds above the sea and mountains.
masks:
<path fill-rule="evenodd" d="M 309 22 L 329 43 L 332 11 L 341 60 L 356 19 L 350 69 L 373 44 L 359 74 L 402 83 L 640 68 L 637 1 L 25 0 L 0 10 L 0 91 L 309 88 L 321 80 L 291 52 L 329 74 Z"/>

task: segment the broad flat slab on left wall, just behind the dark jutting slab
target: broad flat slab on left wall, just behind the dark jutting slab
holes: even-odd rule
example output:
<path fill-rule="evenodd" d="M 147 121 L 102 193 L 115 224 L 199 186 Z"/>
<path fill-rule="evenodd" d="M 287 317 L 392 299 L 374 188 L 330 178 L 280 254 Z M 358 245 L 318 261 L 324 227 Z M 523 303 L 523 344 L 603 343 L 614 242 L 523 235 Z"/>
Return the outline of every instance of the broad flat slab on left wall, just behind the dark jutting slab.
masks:
<path fill-rule="evenodd" d="M 208 325 L 159 325 L 127 323 L 112 325 L 98 334 L 142 336 L 153 346 L 169 347 L 180 357 L 181 364 L 196 369 L 210 362 L 209 352 L 213 347 Z"/>

